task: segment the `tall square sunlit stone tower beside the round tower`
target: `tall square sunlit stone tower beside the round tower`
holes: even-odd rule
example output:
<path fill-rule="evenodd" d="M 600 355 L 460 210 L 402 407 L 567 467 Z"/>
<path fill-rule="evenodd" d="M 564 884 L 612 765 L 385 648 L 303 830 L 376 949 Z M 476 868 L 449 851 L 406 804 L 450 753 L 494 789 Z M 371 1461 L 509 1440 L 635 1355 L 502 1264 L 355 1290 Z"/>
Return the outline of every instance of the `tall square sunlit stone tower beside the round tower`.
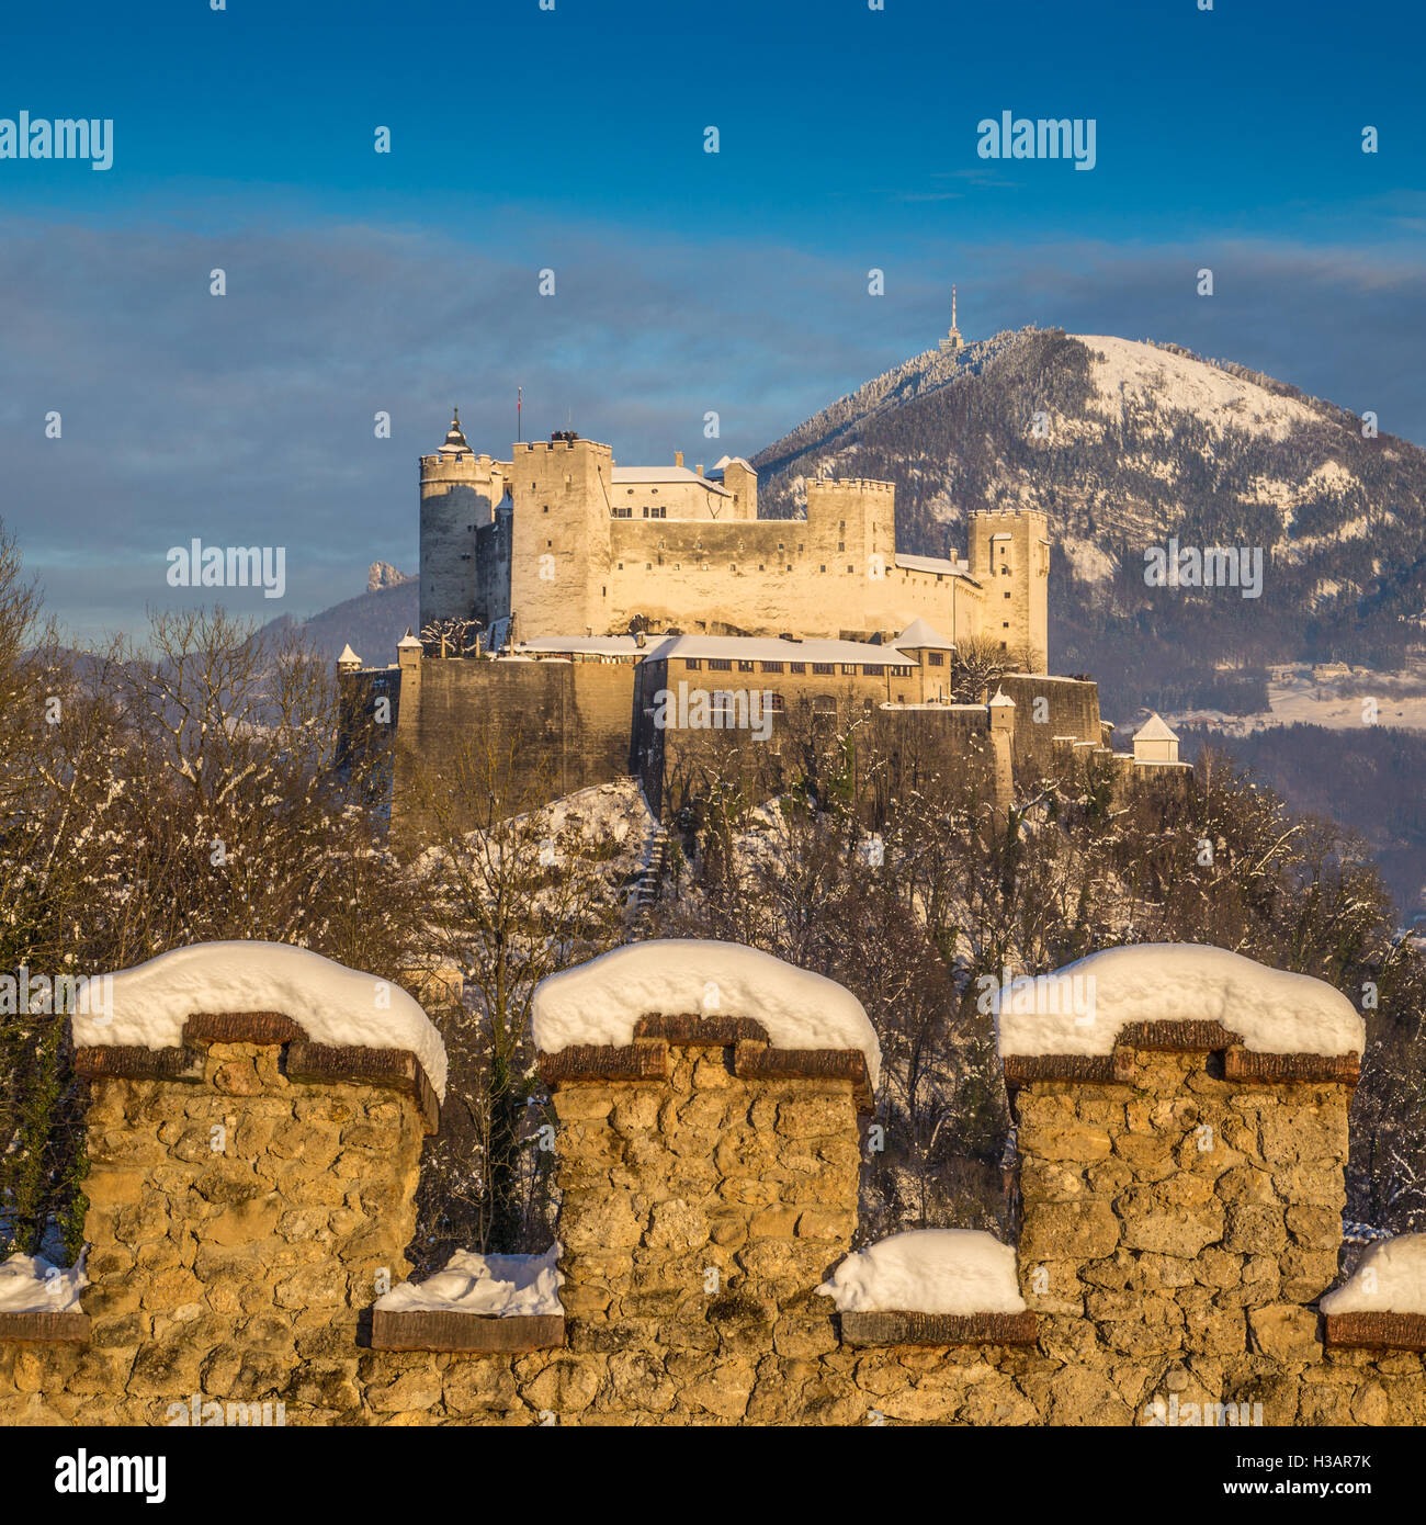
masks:
<path fill-rule="evenodd" d="M 572 432 L 515 445 L 511 613 L 522 640 L 605 634 L 613 450 Z"/>

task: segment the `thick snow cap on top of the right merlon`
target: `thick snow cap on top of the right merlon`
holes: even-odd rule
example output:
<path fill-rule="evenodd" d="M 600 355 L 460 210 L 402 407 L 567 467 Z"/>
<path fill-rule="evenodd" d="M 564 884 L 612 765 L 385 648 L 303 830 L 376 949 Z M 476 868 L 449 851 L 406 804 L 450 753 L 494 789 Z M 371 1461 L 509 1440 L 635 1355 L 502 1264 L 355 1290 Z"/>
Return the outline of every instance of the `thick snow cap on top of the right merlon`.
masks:
<path fill-rule="evenodd" d="M 1132 1022 L 1222 1022 L 1257 1054 L 1360 1054 L 1367 1023 L 1336 988 L 1228 949 L 1138 942 L 1054 974 L 1020 976 L 993 1002 L 999 1051 L 1112 1054 Z"/>

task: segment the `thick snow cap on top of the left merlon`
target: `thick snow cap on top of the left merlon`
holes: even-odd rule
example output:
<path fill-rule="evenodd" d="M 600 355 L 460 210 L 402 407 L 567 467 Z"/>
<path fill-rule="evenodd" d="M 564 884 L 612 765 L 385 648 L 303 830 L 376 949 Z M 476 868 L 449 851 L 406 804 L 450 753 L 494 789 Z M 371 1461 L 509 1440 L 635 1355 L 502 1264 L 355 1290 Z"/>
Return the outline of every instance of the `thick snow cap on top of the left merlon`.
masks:
<path fill-rule="evenodd" d="M 285 942 L 195 942 L 113 976 L 110 1010 L 73 1017 L 81 1048 L 178 1048 L 197 1013 L 281 1011 L 313 1043 L 410 1049 L 445 1098 L 445 1045 L 397 984 Z"/>

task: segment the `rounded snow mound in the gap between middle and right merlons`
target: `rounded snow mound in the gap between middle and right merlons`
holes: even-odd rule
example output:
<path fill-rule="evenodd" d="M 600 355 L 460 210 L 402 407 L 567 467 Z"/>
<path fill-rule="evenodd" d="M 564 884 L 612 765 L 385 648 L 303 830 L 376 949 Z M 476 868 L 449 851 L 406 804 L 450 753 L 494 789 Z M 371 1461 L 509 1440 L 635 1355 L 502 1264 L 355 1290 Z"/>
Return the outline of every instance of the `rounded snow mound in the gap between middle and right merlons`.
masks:
<path fill-rule="evenodd" d="M 839 1313 L 1023 1313 L 1016 1252 L 982 1229 L 911 1229 L 848 1255 L 817 1287 Z"/>

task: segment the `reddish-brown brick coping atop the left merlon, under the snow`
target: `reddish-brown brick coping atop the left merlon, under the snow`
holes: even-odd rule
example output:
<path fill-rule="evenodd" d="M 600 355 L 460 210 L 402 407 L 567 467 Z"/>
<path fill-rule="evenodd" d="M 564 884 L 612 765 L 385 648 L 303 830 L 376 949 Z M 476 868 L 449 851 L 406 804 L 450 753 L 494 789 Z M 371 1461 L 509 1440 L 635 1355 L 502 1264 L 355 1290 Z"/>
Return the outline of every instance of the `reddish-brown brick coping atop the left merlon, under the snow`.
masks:
<path fill-rule="evenodd" d="M 185 1080 L 201 1083 L 203 1054 L 209 1043 L 258 1043 L 287 1051 L 285 1074 L 294 1084 L 378 1086 L 410 1096 L 421 1110 L 427 1133 L 441 1124 L 441 1104 L 410 1049 L 375 1049 L 310 1043 L 302 1026 L 281 1011 L 198 1011 L 183 1023 L 178 1048 L 148 1049 L 104 1045 L 75 1049 L 81 1080 Z"/>

